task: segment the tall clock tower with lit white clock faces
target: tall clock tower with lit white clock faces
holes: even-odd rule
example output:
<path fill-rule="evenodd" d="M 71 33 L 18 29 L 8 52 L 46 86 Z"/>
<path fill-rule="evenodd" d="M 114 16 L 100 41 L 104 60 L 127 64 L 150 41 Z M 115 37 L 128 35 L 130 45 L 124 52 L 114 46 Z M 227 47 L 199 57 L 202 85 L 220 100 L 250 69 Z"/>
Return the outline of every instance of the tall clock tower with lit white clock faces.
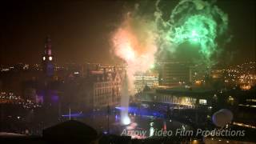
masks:
<path fill-rule="evenodd" d="M 45 42 L 45 50 L 42 55 L 42 70 L 46 77 L 53 77 L 54 75 L 54 56 L 51 50 L 51 39 L 50 36 L 47 36 Z"/>

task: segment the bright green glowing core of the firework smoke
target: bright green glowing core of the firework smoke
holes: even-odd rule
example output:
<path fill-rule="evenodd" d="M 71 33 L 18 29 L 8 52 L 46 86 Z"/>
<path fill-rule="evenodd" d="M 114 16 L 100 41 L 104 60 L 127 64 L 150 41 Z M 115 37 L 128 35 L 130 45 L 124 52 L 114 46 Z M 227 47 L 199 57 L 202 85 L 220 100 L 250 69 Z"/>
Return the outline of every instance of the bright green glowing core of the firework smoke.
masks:
<path fill-rule="evenodd" d="M 183 42 L 197 42 L 201 47 L 200 52 L 210 57 L 210 51 L 215 47 L 216 27 L 213 18 L 202 14 L 193 15 L 187 18 L 183 25 L 175 27 L 170 40 L 176 45 Z"/>

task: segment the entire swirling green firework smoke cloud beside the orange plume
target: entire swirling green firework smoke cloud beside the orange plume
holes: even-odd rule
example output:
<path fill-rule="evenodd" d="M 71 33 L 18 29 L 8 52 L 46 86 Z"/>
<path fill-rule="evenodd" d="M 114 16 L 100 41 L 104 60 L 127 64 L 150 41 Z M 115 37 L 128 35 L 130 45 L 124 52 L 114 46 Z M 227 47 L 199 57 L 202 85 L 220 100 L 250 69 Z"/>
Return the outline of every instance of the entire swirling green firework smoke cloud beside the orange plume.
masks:
<path fill-rule="evenodd" d="M 182 0 L 171 11 L 170 17 L 159 8 L 156 2 L 155 24 L 158 28 L 159 54 L 169 50 L 175 52 L 183 43 L 197 45 L 201 61 L 214 63 L 213 55 L 218 54 L 226 37 L 228 16 L 214 3 L 202 0 Z"/>

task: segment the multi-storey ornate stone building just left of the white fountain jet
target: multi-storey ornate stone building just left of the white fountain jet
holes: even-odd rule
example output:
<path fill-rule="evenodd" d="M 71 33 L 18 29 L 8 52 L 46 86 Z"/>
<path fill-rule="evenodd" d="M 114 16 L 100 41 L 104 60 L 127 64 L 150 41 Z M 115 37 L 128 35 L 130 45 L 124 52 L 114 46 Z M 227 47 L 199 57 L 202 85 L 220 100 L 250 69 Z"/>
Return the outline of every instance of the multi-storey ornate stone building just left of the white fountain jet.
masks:
<path fill-rule="evenodd" d="M 121 98 L 122 78 L 115 69 L 87 70 L 82 91 L 85 105 L 90 108 L 118 106 Z"/>

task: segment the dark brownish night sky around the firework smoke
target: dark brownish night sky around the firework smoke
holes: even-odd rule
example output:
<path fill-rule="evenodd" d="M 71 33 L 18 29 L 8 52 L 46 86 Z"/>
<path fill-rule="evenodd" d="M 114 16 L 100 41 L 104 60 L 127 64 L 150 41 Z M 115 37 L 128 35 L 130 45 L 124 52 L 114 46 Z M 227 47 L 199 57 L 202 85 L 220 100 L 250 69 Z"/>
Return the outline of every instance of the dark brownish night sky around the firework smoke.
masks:
<path fill-rule="evenodd" d="M 48 34 L 58 64 L 114 63 L 110 34 L 136 2 L 2 2 L 0 64 L 40 63 Z M 148 2 L 154 6 L 153 0 Z M 176 3 L 168 2 L 173 6 Z M 219 0 L 217 5 L 229 14 L 233 39 L 226 52 L 233 54 L 233 63 L 255 61 L 255 2 Z"/>

